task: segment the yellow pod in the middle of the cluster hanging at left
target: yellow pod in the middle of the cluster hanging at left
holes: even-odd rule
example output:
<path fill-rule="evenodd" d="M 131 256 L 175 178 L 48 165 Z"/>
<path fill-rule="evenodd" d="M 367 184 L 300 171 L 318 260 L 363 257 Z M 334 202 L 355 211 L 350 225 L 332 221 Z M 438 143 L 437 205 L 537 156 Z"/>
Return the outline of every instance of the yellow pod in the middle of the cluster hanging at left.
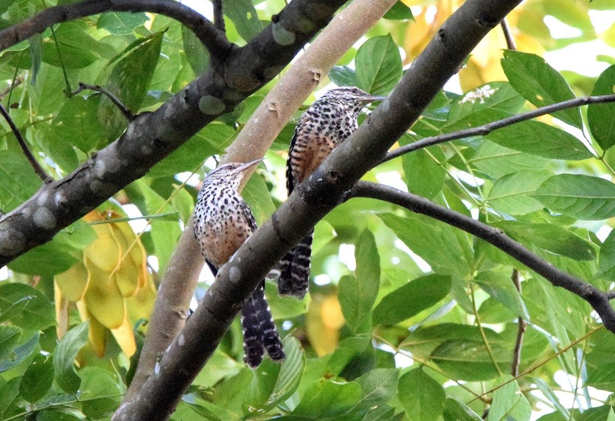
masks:
<path fill-rule="evenodd" d="M 115 279 L 110 279 L 90 259 L 84 258 L 88 274 L 87 291 L 83 296 L 87 310 L 105 327 L 116 329 L 124 320 L 124 298 Z"/>

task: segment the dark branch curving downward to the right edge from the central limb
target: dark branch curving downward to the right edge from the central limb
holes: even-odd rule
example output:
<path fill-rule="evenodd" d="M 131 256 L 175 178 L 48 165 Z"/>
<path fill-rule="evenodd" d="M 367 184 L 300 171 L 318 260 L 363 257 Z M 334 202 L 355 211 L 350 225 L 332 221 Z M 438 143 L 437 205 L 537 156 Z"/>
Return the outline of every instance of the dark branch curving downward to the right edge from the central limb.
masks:
<path fill-rule="evenodd" d="M 353 196 L 371 197 L 403 206 L 411 212 L 438 219 L 441 222 L 455 226 L 466 231 L 466 233 L 487 241 L 540 274 L 554 286 L 564 288 L 587 301 L 596 310 L 598 316 L 601 317 L 605 327 L 615 333 L 615 310 L 613 310 L 609 303 L 607 293 L 552 266 L 548 261 L 541 259 L 517 241 L 505 235 L 502 230 L 483 224 L 466 215 L 455 212 L 455 210 L 439 206 L 424 197 L 405 193 L 389 186 L 382 186 L 371 182 L 359 182 L 353 188 Z"/>

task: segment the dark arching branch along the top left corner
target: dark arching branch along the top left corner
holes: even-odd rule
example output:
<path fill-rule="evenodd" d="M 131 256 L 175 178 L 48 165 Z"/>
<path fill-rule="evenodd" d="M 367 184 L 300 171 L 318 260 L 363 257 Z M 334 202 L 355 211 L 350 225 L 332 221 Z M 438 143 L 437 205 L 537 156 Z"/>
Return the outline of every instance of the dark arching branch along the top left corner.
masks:
<path fill-rule="evenodd" d="M 72 21 L 103 12 L 152 12 L 180 21 L 207 47 L 209 54 L 218 61 L 231 52 L 224 32 L 221 32 L 202 14 L 174 0 L 85 0 L 54 6 L 43 12 L 0 31 L 0 50 L 4 50 L 34 34 L 40 34 L 56 23 Z"/>

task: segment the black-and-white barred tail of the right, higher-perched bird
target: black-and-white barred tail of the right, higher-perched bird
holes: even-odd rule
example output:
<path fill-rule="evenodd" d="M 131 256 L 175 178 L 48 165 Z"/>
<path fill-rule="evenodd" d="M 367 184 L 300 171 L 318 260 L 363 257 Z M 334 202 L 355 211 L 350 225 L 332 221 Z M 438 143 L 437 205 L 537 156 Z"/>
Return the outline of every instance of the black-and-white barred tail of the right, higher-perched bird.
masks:
<path fill-rule="evenodd" d="M 278 292 L 282 295 L 296 296 L 302 299 L 307 290 L 310 277 L 310 261 L 312 255 L 312 239 L 314 230 L 306 235 L 299 244 L 286 255 L 288 261 L 284 263 L 284 270 L 278 281 Z"/>

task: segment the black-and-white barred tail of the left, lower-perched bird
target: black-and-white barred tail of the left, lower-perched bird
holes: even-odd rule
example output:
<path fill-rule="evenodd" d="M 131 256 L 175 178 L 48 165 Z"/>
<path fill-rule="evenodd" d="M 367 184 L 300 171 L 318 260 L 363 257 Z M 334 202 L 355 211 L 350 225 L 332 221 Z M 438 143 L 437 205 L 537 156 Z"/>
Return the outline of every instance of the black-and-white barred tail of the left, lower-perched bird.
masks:
<path fill-rule="evenodd" d="M 264 349 L 267 349 L 267 354 L 272 360 L 283 360 L 284 348 L 264 296 L 264 283 L 261 283 L 244 303 L 241 316 L 245 363 L 250 367 L 258 367 Z"/>

